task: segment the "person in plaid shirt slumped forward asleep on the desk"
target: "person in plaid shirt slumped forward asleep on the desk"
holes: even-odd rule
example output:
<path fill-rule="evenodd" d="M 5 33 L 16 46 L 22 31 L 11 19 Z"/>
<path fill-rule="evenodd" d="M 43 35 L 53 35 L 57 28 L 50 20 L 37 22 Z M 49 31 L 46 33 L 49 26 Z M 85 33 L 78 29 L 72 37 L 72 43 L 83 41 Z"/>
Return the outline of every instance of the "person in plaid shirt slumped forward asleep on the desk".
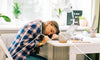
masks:
<path fill-rule="evenodd" d="M 57 34 L 59 27 L 55 21 L 32 21 L 18 32 L 8 51 L 14 60 L 28 60 L 30 55 L 34 57 L 32 60 L 47 60 L 37 55 L 38 48 L 45 45 L 49 37 L 58 38 Z"/>

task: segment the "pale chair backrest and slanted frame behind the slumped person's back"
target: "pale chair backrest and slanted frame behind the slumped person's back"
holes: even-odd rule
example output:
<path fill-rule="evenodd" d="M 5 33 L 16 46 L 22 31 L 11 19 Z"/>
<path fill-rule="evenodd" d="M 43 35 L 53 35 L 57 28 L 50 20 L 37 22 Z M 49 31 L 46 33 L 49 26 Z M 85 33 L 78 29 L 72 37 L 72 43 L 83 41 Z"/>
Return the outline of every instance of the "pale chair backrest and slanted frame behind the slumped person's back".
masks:
<path fill-rule="evenodd" d="M 10 53 L 8 52 L 8 48 L 14 38 L 16 37 L 16 33 L 6 33 L 1 34 L 0 38 L 0 60 L 13 60 Z M 5 58 L 7 55 L 8 58 Z"/>

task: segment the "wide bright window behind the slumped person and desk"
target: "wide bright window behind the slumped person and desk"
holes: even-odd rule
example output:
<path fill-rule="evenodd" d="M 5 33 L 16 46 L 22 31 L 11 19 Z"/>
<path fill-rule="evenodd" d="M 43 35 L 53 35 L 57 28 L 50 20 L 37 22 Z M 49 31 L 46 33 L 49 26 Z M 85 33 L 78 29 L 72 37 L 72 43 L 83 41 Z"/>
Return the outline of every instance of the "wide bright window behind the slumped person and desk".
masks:
<path fill-rule="evenodd" d="M 14 2 L 18 2 L 20 5 L 21 14 L 18 19 L 15 19 L 12 13 Z M 69 2 L 73 10 L 83 10 L 83 16 L 86 17 L 91 26 L 94 16 L 94 0 L 0 0 L 0 12 L 12 19 L 12 22 L 8 24 L 15 24 L 15 22 L 22 24 L 35 19 L 42 19 L 43 21 L 54 19 L 60 22 L 60 25 L 66 25 L 67 12 L 62 13 L 61 19 L 57 15 L 59 8 L 66 8 Z"/>

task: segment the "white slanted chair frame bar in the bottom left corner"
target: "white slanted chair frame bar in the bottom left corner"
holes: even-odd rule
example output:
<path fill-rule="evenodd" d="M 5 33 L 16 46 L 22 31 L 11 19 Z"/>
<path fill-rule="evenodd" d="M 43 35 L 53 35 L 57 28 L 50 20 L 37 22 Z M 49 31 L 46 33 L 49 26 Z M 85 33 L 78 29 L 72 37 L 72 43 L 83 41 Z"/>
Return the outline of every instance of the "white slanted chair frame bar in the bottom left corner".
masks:
<path fill-rule="evenodd" d="M 4 53 L 3 55 L 7 56 L 7 58 L 2 59 L 2 57 L 0 57 L 0 59 L 2 59 L 2 60 L 13 60 L 10 53 L 8 52 L 7 47 L 5 46 L 4 42 L 1 39 L 0 39 L 0 49 L 2 50 L 0 52 L 3 52 Z"/>

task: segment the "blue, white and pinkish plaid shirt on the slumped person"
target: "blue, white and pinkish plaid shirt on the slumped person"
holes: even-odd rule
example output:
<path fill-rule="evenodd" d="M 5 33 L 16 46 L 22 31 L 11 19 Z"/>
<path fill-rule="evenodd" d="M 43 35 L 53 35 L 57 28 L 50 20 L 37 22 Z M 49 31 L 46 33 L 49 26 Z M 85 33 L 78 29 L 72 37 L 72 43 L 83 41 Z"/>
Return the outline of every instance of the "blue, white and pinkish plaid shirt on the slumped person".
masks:
<path fill-rule="evenodd" d="M 41 27 L 41 22 L 30 22 L 18 32 L 17 37 L 8 49 L 14 60 L 26 60 L 26 56 L 30 55 L 31 51 L 36 52 L 37 39 L 42 32 Z"/>

